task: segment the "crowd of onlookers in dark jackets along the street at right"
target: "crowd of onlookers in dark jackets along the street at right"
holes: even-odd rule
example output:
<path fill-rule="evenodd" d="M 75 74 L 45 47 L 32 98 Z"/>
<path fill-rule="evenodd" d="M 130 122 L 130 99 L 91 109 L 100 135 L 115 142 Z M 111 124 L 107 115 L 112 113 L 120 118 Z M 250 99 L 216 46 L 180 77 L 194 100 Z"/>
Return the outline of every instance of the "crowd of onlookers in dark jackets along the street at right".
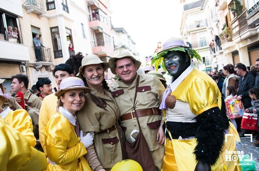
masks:
<path fill-rule="evenodd" d="M 210 72 L 209 75 L 218 85 L 222 96 L 225 100 L 236 98 L 241 100 L 245 109 L 245 112 L 258 113 L 258 92 L 259 92 L 259 58 L 256 59 L 255 65 L 246 67 L 242 63 L 238 63 L 235 66 L 227 64 L 223 67 L 223 70 Z M 258 111 L 257 111 L 258 110 Z M 240 125 L 242 118 L 230 119 L 234 124 L 238 132 L 241 132 Z M 259 123 L 257 120 L 258 130 Z M 244 134 L 250 134 L 250 130 L 245 130 L 240 138 L 246 138 Z M 257 135 L 258 132 L 253 132 Z M 259 147 L 259 137 L 256 137 L 255 145 Z"/>

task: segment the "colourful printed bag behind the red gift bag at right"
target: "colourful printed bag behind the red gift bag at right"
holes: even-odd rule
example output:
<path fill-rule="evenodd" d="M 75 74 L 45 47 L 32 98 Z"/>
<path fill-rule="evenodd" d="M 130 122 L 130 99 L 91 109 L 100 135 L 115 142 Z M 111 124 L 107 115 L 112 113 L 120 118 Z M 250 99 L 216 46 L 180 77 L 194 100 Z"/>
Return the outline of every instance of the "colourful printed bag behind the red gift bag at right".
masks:
<path fill-rule="evenodd" d="M 230 119 L 241 118 L 245 112 L 243 103 L 236 99 L 225 100 L 227 113 Z"/>

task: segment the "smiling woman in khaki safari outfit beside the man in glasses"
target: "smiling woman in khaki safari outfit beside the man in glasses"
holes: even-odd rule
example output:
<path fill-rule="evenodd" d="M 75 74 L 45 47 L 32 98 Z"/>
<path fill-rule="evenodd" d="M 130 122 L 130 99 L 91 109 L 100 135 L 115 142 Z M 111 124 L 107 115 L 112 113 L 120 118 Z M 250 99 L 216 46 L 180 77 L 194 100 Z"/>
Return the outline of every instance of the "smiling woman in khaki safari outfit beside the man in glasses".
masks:
<path fill-rule="evenodd" d="M 109 171 L 122 155 L 122 130 L 119 127 L 119 108 L 105 81 L 104 71 L 110 67 L 97 55 L 87 55 L 82 60 L 77 76 L 83 78 L 91 92 L 85 94 L 86 103 L 76 117 L 83 131 L 94 134 L 94 144 L 87 148 L 85 155 L 94 171 Z"/>

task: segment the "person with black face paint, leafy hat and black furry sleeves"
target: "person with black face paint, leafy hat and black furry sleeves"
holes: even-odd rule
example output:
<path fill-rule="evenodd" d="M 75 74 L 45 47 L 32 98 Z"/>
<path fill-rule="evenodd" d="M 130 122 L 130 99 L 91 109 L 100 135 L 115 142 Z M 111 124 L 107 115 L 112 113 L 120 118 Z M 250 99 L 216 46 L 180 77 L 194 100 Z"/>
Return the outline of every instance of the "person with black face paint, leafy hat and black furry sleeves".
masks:
<path fill-rule="evenodd" d="M 241 171 L 234 161 L 225 161 L 225 150 L 235 151 L 238 133 L 225 113 L 215 82 L 194 67 L 200 56 L 179 38 L 170 38 L 154 58 L 172 76 L 163 94 L 165 157 L 163 171 Z M 225 134 L 227 136 L 225 142 Z"/>

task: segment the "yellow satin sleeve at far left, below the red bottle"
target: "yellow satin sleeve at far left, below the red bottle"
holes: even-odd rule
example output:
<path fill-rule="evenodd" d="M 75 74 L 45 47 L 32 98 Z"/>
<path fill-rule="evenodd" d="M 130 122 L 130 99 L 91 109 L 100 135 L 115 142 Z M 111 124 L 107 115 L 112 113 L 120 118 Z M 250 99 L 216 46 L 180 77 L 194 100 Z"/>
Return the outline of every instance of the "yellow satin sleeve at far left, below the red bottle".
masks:
<path fill-rule="evenodd" d="M 36 145 L 32 121 L 26 110 L 10 111 L 5 117 L 5 121 L 9 126 L 19 131 L 29 141 L 30 146 L 34 147 Z"/>

